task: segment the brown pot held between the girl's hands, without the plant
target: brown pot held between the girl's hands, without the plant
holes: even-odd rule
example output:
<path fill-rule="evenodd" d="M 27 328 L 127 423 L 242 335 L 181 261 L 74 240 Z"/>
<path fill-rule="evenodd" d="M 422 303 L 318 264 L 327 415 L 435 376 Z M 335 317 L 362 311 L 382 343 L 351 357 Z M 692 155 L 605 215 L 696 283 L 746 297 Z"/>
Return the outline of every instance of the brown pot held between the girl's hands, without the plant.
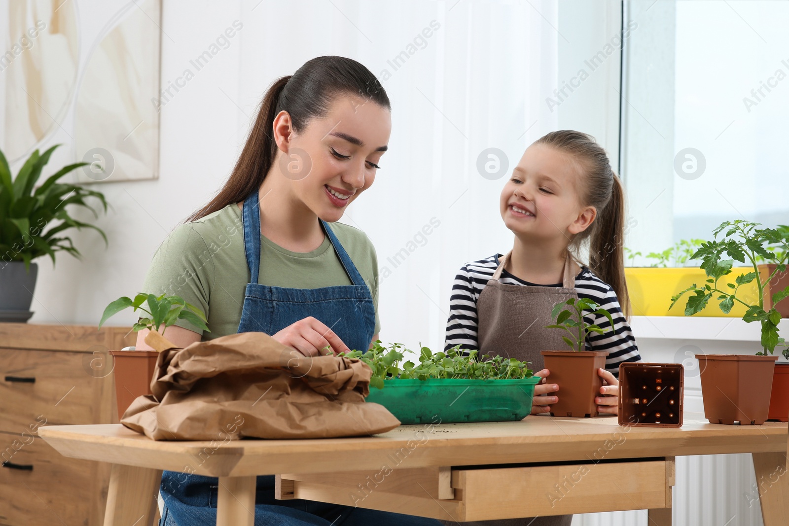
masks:
<path fill-rule="evenodd" d="M 559 401 L 551 405 L 552 416 L 597 416 L 596 396 L 603 379 L 598 368 L 605 368 L 608 351 L 540 351 L 545 368 L 551 371 L 549 383 L 559 386 Z"/>

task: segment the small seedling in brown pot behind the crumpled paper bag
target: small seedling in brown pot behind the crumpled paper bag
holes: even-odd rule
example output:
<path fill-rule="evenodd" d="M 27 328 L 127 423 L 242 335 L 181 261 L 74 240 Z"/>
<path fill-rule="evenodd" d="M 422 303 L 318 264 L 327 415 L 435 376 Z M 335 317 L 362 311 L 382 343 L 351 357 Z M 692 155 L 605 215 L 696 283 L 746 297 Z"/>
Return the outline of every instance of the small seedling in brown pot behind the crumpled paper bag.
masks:
<path fill-rule="evenodd" d="M 148 304 L 148 308 L 144 308 L 143 304 Z M 99 322 L 99 329 L 111 316 L 129 307 L 135 312 L 139 309 L 148 314 L 137 319 L 132 330 L 135 332 L 150 330 L 145 336 L 145 343 L 155 350 L 138 351 L 134 347 L 127 347 L 121 351 L 110 351 L 115 361 L 113 374 L 118 418 L 129 408 L 129 405 L 132 405 L 136 397 L 151 394 L 151 379 L 156 371 L 159 353 L 175 346 L 163 336 L 167 327 L 179 319 L 184 319 L 206 332 L 211 332 L 206 325 L 203 311 L 193 304 L 186 303 L 182 297 L 165 294 L 154 296 L 146 293 L 137 294 L 133 300 L 129 297 L 119 297 L 107 305 Z M 164 330 L 159 334 L 159 328 L 162 326 Z"/>

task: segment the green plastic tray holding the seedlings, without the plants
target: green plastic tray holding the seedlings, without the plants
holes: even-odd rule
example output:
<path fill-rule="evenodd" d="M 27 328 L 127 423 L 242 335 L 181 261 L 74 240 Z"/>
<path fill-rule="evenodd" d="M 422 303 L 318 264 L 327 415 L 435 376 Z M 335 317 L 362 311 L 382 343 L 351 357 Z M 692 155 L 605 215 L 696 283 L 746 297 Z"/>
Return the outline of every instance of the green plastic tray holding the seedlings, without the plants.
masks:
<path fill-rule="evenodd" d="M 539 376 L 516 380 L 387 379 L 370 388 L 368 402 L 402 423 L 506 422 L 532 412 Z M 439 420 L 440 419 L 440 420 Z"/>

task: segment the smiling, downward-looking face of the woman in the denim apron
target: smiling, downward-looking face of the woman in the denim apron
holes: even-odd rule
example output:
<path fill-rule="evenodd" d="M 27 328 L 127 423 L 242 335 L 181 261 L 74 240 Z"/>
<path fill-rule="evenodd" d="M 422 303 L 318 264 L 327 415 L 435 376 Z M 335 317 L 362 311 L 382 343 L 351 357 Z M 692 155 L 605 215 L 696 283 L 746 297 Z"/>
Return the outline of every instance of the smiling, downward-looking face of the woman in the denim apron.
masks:
<path fill-rule="evenodd" d="M 319 218 L 335 222 L 372 185 L 391 133 L 391 112 L 360 97 L 339 95 L 323 118 L 295 133 L 290 115 L 274 121 L 275 170 L 292 181 L 297 198 Z"/>

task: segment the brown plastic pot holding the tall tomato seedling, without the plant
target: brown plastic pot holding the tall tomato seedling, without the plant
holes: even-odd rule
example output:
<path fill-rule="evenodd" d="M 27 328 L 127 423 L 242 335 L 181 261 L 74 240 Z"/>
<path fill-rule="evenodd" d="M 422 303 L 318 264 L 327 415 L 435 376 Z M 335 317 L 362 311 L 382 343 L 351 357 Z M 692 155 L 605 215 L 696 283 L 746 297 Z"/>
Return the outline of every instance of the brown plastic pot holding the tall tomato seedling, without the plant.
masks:
<path fill-rule="evenodd" d="M 696 358 L 704 416 L 710 423 L 765 423 L 778 356 L 697 354 Z"/>

